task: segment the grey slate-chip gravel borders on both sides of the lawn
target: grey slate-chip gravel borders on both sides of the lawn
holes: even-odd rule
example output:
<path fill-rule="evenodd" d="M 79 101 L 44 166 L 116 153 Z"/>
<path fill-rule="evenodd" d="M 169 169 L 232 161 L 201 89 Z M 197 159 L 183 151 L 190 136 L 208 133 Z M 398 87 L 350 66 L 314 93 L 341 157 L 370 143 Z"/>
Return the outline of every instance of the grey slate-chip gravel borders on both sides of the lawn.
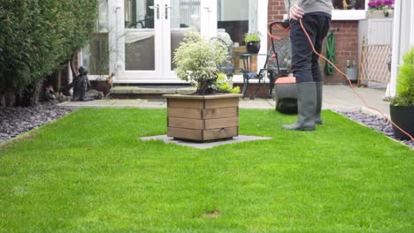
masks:
<path fill-rule="evenodd" d="M 71 109 L 59 107 L 56 102 L 42 102 L 37 106 L 27 108 L 0 108 L 0 143 L 15 138 L 20 133 L 28 132 L 43 124 L 50 123 L 71 111 Z M 355 110 L 340 111 L 338 113 L 395 139 L 391 124 L 383 118 Z M 414 141 L 404 140 L 400 142 L 414 148 Z"/>

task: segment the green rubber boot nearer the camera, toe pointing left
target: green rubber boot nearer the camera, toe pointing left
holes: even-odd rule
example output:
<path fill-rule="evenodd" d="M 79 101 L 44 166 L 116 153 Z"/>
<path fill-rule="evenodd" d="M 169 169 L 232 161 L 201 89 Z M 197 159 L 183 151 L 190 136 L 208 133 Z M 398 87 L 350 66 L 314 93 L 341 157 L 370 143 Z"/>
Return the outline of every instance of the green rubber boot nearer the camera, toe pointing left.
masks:
<path fill-rule="evenodd" d="M 290 131 L 314 131 L 316 113 L 315 82 L 298 83 L 297 87 L 297 120 L 294 124 L 283 125 L 282 129 Z"/>

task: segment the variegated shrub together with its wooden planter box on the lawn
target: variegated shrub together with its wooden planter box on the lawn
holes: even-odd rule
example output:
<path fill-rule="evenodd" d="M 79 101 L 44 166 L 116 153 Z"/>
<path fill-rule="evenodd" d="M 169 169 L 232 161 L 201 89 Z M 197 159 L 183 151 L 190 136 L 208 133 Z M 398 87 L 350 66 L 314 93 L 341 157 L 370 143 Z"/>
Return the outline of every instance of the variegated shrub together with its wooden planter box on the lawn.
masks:
<path fill-rule="evenodd" d="M 168 137 L 209 141 L 238 136 L 242 94 L 219 93 L 232 90 L 223 74 L 219 75 L 219 65 L 227 56 L 219 41 L 199 34 L 185 36 L 174 53 L 175 72 L 197 89 L 195 94 L 163 95 L 167 99 Z"/>

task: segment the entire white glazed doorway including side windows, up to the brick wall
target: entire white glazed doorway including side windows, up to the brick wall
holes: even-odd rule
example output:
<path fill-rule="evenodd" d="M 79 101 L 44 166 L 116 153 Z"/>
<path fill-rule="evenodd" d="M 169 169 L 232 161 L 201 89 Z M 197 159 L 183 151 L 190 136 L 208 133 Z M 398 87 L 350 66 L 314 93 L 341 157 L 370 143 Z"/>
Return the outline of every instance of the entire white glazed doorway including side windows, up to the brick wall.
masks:
<path fill-rule="evenodd" d="M 110 48 L 109 72 L 119 83 L 179 83 L 173 53 L 184 35 L 194 31 L 219 36 L 242 49 L 242 36 L 258 31 L 267 44 L 267 1 L 256 0 L 106 0 L 103 33 Z M 260 3 L 260 4 L 258 4 Z M 237 7 L 235 7 L 237 6 Z M 100 12 L 101 17 L 101 12 Z M 103 20 L 103 21 L 105 21 Z M 103 44 L 103 46 L 105 46 Z M 265 53 L 262 46 L 260 53 Z M 104 55 L 104 54 L 103 54 Z M 263 60 L 263 61 L 262 61 Z M 257 66 L 265 56 L 257 57 Z M 237 65 L 236 61 L 236 65 Z M 105 71 L 108 72 L 108 71 Z"/>

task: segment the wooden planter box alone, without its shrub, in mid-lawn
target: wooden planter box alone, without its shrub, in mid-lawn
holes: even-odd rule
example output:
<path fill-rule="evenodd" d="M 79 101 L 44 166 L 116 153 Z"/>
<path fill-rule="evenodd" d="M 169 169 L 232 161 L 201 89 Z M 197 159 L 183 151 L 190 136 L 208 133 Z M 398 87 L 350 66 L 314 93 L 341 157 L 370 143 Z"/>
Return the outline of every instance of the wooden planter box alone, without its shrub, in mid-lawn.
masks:
<path fill-rule="evenodd" d="M 167 99 L 167 136 L 208 141 L 239 135 L 239 98 L 242 94 L 164 94 Z"/>

